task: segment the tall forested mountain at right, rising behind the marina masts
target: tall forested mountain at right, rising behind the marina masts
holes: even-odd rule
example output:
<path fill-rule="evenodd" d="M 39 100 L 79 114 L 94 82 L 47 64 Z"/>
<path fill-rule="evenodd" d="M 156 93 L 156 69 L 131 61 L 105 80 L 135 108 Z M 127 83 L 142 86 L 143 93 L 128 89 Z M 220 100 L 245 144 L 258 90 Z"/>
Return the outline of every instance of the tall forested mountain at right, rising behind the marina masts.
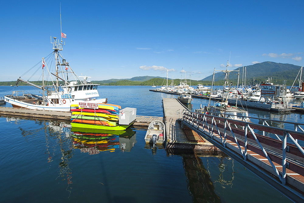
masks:
<path fill-rule="evenodd" d="M 264 81 L 266 79 L 272 78 L 272 82 L 281 80 L 295 80 L 295 77 L 299 73 L 301 66 L 292 64 L 275 63 L 271 61 L 265 61 L 262 63 L 257 63 L 254 65 L 244 66 L 244 72 L 246 67 L 246 80 L 255 79 L 257 81 Z M 243 66 L 236 68 L 234 70 L 240 69 L 240 81 L 243 77 Z M 226 70 L 226 68 L 223 70 Z M 202 79 L 203 81 L 212 81 L 213 75 Z M 245 77 L 245 75 L 244 75 Z M 214 81 L 224 80 L 225 73 L 218 72 L 214 75 Z M 237 75 L 235 72 L 231 72 L 229 75 L 230 80 L 237 80 Z"/>

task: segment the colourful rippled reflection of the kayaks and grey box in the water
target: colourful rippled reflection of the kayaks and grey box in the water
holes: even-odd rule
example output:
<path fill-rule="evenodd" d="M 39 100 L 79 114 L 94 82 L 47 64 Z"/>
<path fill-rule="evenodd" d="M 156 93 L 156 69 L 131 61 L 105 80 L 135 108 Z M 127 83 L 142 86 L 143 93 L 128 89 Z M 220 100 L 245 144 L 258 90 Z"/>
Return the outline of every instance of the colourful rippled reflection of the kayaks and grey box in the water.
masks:
<path fill-rule="evenodd" d="M 73 147 L 90 155 L 100 152 L 114 152 L 119 148 L 122 152 L 130 152 L 136 144 L 136 132 L 131 128 L 126 131 L 106 131 L 89 128 L 74 128 Z"/>

